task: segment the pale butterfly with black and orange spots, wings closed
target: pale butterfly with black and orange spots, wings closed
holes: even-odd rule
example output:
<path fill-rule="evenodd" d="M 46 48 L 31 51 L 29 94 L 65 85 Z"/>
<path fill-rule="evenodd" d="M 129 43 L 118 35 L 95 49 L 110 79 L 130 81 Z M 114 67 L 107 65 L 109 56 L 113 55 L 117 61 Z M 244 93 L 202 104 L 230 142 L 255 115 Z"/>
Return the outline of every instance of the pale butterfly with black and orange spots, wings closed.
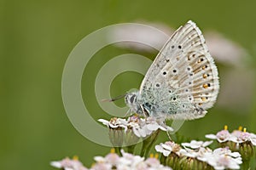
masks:
<path fill-rule="evenodd" d="M 205 38 L 189 20 L 160 50 L 139 90 L 125 94 L 125 104 L 146 117 L 192 120 L 207 114 L 218 89 L 218 70 Z"/>

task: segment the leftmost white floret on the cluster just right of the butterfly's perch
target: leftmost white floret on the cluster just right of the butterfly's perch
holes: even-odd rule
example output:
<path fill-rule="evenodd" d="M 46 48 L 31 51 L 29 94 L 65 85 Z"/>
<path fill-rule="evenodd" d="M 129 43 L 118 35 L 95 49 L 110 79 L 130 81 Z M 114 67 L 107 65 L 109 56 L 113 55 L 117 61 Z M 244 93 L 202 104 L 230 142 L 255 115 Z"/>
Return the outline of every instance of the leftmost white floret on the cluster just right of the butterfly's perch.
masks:
<path fill-rule="evenodd" d="M 160 153 L 162 153 L 164 156 L 169 156 L 171 152 L 177 154 L 179 156 L 180 152 L 180 145 L 175 144 L 174 142 L 168 141 L 165 144 L 157 144 L 154 146 L 154 149 Z"/>

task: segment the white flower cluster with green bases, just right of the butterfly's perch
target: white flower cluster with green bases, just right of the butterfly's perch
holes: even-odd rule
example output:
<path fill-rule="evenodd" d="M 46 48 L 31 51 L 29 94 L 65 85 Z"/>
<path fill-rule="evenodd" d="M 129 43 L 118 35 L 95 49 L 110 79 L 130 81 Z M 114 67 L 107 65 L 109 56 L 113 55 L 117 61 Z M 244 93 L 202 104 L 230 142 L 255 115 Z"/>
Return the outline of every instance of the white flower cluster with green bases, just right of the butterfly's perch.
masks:
<path fill-rule="evenodd" d="M 195 141 L 182 143 L 166 142 L 155 146 L 155 150 L 164 156 L 161 160 L 175 169 L 239 169 L 241 155 L 228 148 L 211 150 L 207 145 L 212 141 Z M 178 166 L 178 167 L 177 167 Z"/>

